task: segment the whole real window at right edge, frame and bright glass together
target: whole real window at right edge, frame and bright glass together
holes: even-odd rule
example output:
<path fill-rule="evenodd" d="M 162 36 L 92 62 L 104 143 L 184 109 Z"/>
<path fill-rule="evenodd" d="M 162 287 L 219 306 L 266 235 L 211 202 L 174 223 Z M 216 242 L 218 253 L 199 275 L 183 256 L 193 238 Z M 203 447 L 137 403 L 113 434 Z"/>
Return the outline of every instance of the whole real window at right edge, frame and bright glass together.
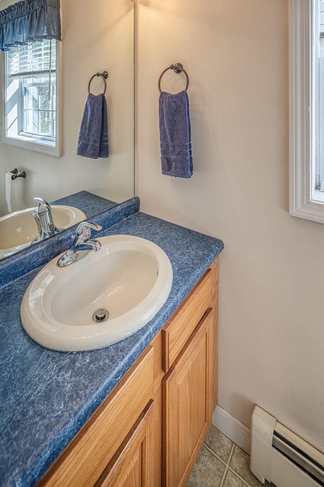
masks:
<path fill-rule="evenodd" d="M 290 0 L 290 214 L 324 223 L 324 0 Z"/>

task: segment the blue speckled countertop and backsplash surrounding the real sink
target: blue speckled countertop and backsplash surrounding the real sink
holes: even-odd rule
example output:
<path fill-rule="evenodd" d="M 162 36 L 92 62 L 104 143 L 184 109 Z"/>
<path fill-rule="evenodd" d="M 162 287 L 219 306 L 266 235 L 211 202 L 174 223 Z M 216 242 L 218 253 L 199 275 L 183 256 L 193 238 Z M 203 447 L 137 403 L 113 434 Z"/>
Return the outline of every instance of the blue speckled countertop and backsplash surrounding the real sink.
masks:
<path fill-rule="evenodd" d="M 53 257 L 68 248 L 69 231 L 66 238 L 57 235 L 46 241 L 46 247 L 35 247 L 31 256 L 22 251 L 5 259 L 3 274 L 10 273 L 10 263 L 20 267 L 10 273 L 12 278 L 17 274 L 14 281 L 6 281 L 1 275 L 3 263 L 0 265 L 2 487 L 30 487 L 41 478 L 223 249 L 221 240 L 138 210 L 139 200 L 132 198 L 92 221 L 103 225 L 101 235 L 137 235 L 159 245 L 170 258 L 173 285 L 167 302 L 147 325 L 105 349 L 53 352 L 35 343 L 21 326 L 22 297 L 39 266 L 46 263 L 39 256 L 49 248 L 49 260 L 50 252 Z M 23 273 L 21 259 L 28 260 L 25 271 L 32 267 L 31 261 L 38 267 Z"/>

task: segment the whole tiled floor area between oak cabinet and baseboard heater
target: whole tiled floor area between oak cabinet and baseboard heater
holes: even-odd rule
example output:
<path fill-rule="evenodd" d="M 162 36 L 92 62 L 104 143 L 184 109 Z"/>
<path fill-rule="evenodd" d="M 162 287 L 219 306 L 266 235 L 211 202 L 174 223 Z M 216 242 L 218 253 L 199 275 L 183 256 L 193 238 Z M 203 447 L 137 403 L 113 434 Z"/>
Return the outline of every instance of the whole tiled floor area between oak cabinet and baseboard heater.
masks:
<path fill-rule="evenodd" d="M 211 426 L 187 487 L 265 487 L 249 469 L 250 457 Z"/>

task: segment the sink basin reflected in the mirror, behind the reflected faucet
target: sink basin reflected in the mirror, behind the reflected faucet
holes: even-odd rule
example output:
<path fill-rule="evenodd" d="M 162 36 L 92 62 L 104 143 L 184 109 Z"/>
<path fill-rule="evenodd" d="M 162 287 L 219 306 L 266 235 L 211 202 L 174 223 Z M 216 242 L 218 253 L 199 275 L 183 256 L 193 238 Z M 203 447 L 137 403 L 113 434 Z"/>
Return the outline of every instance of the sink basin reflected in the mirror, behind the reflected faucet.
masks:
<path fill-rule="evenodd" d="M 82 211 L 73 206 L 53 204 L 51 208 L 57 228 L 68 228 L 87 218 Z M 36 206 L 0 218 L 0 258 L 28 247 L 36 238 L 38 229 L 32 216 L 35 210 Z"/>

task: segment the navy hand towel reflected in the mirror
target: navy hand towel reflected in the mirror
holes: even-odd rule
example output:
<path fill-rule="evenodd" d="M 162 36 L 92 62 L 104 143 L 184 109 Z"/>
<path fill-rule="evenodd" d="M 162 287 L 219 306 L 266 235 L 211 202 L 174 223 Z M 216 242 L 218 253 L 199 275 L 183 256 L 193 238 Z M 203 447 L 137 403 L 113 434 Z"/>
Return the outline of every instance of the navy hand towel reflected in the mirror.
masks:
<path fill-rule="evenodd" d="M 88 95 L 76 153 L 91 159 L 109 156 L 107 102 L 103 93 Z"/>

